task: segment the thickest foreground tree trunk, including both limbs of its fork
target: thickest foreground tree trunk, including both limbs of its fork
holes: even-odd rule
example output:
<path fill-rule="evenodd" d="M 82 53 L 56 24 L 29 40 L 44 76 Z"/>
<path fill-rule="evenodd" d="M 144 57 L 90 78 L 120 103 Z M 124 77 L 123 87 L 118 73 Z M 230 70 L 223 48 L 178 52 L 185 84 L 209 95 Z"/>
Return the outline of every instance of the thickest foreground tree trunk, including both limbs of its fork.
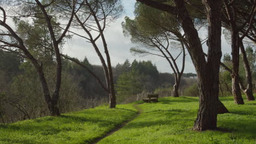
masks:
<path fill-rule="evenodd" d="M 203 1 L 207 9 L 209 35 L 208 59 L 202 51 L 201 41 L 193 25 L 184 1 L 175 1 L 178 18 L 188 38 L 190 56 L 193 59 L 199 77 L 199 112 L 194 123 L 194 130 L 216 129 L 219 97 L 219 64 L 221 51 L 220 1 Z"/>

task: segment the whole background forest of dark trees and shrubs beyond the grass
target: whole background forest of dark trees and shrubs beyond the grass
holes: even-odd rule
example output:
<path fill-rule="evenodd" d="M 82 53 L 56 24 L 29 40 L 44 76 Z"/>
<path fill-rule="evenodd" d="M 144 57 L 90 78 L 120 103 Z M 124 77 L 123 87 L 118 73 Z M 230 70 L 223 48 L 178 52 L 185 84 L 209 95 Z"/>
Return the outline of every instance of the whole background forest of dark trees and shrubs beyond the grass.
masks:
<path fill-rule="evenodd" d="M 247 47 L 248 59 L 252 68 L 253 83 L 256 83 L 256 51 Z M 63 61 L 63 81 L 60 93 L 61 113 L 89 109 L 108 103 L 108 94 L 101 88 L 96 79 L 82 67 L 67 59 Z M 83 63 L 104 81 L 101 65 L 92 65 L 85 57 Z M 231 67 L 231 57 L 224 55 L 223 63 Z M 242 61 L 240 62 L 242 64 Z M 53 85 L 56 67 L 54 61 L 46 62 L 45 76 L 49 85 Z M 241 79 L 246 83 L 245 70 L 240 68 Z M 113 67 L 118 104 L 137 100 L 137 94 L 143 92 L 167 92 L 172 96 L 174 74 L 159 73 L 151 61 L 118 63 Z M 181 96 L 198 97 L 199 89 L 196 74 L 185 73 L 181 81 Z M 192 78 L 194 77 L 194 78 Z M 42 87 L 33 65 L 15 53 L 0 52 L 0 113 L 1 122 L 9 123 L 24 119 L 48 116 L 49 111 L 42 97 Z M 255 92 L 255 87 L 254 87 Z M 220 96 L 232 95 L 230 73 L 220 70 Z M 141 100 L 141 99 L 139 99 Z"/>

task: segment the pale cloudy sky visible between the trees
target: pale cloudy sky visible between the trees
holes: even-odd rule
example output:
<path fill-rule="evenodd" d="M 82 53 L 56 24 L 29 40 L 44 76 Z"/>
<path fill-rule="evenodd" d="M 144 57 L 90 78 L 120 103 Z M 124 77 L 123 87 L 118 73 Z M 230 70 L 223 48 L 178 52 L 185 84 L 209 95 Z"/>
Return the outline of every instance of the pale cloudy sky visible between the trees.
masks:
<path fill-rule="evenodd" d="M 140 61 L 152 61 L 156 65 L 160 73 L 173 73 L 170 65 L 166 59 L 158 56 L 133 56 L 130 53 L 130 48 L 135 47 L 132 44 L 129 37 L 125 37 L 123 34 L 123 28 L 121 27 L 121 22 L 124 21 L 125 16 L 134 17 L 134 5 L 135 0 L 123 0 L 124 14 L 119 17 L 119 19 L 109 24 L 104 35 L 107 40 L 108 49 L 110 53 L 110 59 L 112 66 L 115 67 L 118 63 L 124 63 L 126 59 L 132 62 L 134 59 Z M 207 31 L 202 31 L 200 36 L 206 37 Z M 99 45 L 100 42 L 98 42 Z M 206 51 L 207 46 L 203 45 L 203 49 Z M 231 52 L 231 46 L 226 43 L 224 34 L 222 35 L 222 51 L 224 53 Z M 103 51 L 102 51 L 103 52 Z M 86 43 L 86 40 L 77 36 L 74 36 L 71 40 L 68 40 L 63 47 L 63 53 L 71 57 L 77 57 L 82 60 L 86 56 L 91 64 L 101 65 L 100 59 L 96 55 L 96 52 L 90 43 Z M 172 51 L 173 55 L 177 55 L 178 51 Z M 177 63 L 181 68 L 181 58 L 177 59 Z M 186 56 L 184 73 L 196 73 L 194 65 L 190 59 L 190 56 Z"/>

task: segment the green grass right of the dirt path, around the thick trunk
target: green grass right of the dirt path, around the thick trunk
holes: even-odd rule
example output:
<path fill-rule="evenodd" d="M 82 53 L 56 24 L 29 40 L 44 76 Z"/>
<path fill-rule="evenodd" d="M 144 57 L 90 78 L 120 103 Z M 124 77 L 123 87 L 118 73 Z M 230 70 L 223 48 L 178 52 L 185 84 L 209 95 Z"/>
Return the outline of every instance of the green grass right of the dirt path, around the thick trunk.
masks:
<path fill-rule="evenodd" d="M 223 131 L 190 130 L 198 98 L 162 98 L 159 103 L 138 105 L 143 111 L 138 118 L 98 143 L 256 143 L 256 101 L 235 105 L 232 97 L 220 100 L 230 111 L 218 115 Z"/>

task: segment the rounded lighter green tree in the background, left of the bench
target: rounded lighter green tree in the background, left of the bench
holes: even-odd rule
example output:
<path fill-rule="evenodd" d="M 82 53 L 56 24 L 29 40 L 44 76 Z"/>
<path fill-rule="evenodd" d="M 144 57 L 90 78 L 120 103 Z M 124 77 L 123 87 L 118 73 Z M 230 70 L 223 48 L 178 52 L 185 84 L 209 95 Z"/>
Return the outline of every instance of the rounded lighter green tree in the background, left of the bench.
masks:
<path fill-rule="evenodd" d="M 127 99 L 136 97 L 135 94 L 141 93 L 143 85 L 141 83 L 138 71 L 131 70 L 123 73 L 118 77 L 116 91 L 119 103 L 125 102 Z"/>

